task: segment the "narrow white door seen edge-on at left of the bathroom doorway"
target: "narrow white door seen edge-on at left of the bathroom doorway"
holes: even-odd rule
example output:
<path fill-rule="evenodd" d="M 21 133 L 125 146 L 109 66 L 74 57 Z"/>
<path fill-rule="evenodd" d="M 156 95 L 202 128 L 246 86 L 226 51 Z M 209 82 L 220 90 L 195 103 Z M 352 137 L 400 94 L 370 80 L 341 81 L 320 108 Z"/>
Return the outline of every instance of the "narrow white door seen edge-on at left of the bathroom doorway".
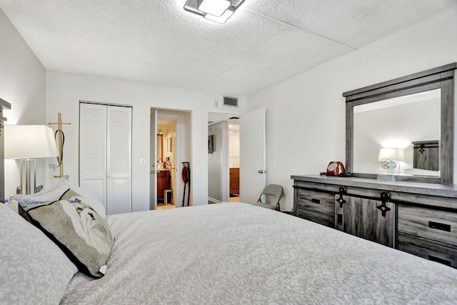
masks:
<path fill-rule="evenodd" d="M 149 134 L 149 209 L 157 209 L 157 110 L 151 110 Z M 162 148 L 163 149 L 163 148 Z"/>

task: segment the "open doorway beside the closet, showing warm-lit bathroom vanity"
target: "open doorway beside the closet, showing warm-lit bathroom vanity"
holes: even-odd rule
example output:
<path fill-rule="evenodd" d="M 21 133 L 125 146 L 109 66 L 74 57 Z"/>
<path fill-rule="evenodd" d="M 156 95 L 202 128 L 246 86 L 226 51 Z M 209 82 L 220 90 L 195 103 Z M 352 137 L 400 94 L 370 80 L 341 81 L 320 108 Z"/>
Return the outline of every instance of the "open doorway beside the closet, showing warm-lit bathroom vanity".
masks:
<path fill-rule="evenodd" d="M 151 108 L 150 135 L 149 209 L 181 207 L 185 184 L 178 173 L 191 156 L 191 112 Z"/>

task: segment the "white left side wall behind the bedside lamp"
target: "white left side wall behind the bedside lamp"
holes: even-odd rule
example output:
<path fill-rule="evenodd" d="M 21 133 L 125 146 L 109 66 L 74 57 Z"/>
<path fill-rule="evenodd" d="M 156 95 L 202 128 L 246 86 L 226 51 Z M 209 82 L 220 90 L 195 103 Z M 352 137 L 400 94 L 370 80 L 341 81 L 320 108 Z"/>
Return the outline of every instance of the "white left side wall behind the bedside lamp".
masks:
<path fill-rule="evenodd" d="M 0 10 L 0 98 L 11 104 L 6 124 L 46 124 L 46 70 Z M 37 162 L 37 185 L 44 183 L 44 160 Z M 5 194 L 16 194 L 19 161 L 5 160 Z"/>

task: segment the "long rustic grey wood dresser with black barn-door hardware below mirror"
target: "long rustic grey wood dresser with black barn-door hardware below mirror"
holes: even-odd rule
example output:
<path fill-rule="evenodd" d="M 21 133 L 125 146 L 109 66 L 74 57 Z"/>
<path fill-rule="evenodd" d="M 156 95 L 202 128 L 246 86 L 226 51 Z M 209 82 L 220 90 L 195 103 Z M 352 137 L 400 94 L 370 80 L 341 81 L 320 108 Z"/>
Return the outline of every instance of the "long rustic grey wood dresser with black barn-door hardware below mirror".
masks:
<path fill-rule="evenodd" d="M 457 268 L 457 187 L 305 175 L 293 214 Z"/>

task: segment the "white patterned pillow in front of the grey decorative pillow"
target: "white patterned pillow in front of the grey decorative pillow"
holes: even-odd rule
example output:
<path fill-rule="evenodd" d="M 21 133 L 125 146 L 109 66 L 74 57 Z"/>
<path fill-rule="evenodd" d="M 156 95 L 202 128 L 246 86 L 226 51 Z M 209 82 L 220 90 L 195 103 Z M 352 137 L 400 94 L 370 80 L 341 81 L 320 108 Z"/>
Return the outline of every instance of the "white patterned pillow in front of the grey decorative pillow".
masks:
<path fill-rule="evenodd" d="M 0 204 L 0 304 L 59 304 L 78 269 L 39 229 Z"/>

